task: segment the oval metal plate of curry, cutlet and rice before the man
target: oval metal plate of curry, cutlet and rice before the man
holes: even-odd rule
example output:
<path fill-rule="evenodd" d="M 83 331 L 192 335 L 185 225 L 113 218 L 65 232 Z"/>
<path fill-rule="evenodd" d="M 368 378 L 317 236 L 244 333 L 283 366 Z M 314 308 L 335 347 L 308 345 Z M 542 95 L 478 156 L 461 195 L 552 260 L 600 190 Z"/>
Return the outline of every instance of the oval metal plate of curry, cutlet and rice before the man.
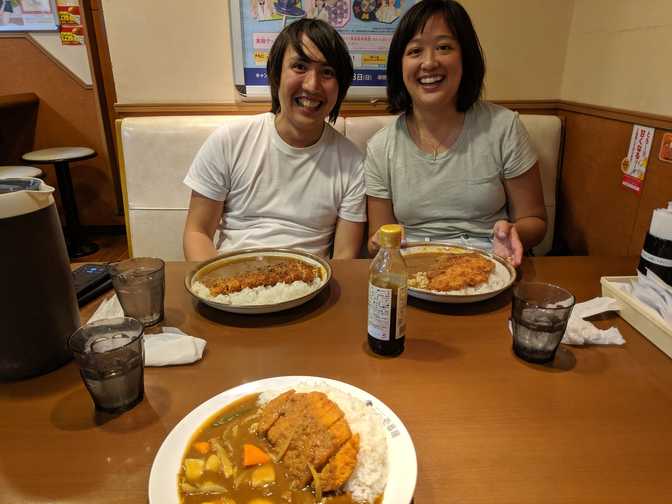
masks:
<path fill-rule="evenodd" d="M 222 254 L 187 273 L 185 287 L 218 310 L 259 314 L 287 310 L 314 298 L 331 279 L 321 257 L 291 249 L 246 249 Z"/>

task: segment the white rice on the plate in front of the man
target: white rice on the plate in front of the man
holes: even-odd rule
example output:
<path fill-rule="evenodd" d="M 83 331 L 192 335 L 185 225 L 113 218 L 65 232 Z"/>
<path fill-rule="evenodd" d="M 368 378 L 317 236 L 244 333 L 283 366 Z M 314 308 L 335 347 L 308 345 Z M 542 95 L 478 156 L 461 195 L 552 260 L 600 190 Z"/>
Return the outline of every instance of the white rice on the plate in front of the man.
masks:
<path fill-rule="evenodd" d="M 249 287 L 232 294 L 219 294 L 217 296 L 210 295 L 210 289 L 199 282 L 194 281 L 191 284 L 191 290 L 194 294 L 204 299 L 216 301 L 218 303 L 246 306 L 246 305 L 269 305 L 290 301 L 292 299 L 300 298 L 306 294 L 314 292 L 322 285 L 322 279 L 318 276 L 312 283 L 306 283 L 297 280 L 291 284 L 277 283 L 271 287 Z"/>

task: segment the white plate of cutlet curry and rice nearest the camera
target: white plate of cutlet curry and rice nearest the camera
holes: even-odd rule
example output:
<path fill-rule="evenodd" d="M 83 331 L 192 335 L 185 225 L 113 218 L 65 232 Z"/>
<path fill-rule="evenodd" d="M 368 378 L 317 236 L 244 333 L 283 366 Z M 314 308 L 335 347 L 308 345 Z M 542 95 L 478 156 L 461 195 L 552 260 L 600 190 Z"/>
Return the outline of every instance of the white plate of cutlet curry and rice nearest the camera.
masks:
<path fill-rule="evenodd" d="M 408 504 L 417 472 L 406 427 L 380 400 L 328 378 L 283 376 L 184 417 L 154 458 L 149 502 Z"/>

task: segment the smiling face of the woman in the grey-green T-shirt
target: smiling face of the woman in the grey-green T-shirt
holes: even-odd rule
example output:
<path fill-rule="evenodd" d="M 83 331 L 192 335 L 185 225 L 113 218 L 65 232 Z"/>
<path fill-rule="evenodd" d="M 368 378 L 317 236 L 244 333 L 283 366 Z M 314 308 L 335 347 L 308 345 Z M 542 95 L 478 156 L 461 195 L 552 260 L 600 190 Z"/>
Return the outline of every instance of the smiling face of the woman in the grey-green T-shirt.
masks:
<path fill-rule="evenodd" d="M 442 16 L 429 18 L 424 30 L 406 45 L 402 73 L 414 110 L 456 110 L 462 51 Z"/>

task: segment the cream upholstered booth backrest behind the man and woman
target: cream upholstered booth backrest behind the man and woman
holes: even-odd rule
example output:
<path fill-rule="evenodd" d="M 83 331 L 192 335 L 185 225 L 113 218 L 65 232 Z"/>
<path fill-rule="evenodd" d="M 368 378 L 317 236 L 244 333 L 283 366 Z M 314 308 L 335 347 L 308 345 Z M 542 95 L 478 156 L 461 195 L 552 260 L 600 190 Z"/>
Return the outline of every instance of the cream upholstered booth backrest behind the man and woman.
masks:
<path fill-rule="evenodd" d="M 190 190 L 182 180 L 196 152 L 220 124 L 241 116 L 151 116 L 117 121 L 117 140 L 131 256 L 184 260 L 182 231 Z M 557 116 L 521 114 L 539 155 L 548 230 L 534 248 L 545 255 L 553 243 L 556 178 L 562 139 Z M 362 151 L 394 116 L 339 117 L 335 127 Z"/>

